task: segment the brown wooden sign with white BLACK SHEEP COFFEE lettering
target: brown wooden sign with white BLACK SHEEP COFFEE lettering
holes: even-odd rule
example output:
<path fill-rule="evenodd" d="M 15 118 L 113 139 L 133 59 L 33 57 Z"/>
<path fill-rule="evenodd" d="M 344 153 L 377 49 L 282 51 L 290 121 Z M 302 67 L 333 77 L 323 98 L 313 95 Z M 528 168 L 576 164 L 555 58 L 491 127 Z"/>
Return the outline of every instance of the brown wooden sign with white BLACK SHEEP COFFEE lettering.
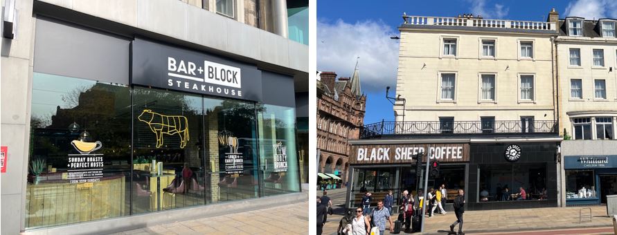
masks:
<path fill-rule="evenodd" d="M 411 163 L 418 153 L 425 153 L 422 162 L 469 162 L 469 144 L 385 144 L 352 146 L 350 164 Z"/>

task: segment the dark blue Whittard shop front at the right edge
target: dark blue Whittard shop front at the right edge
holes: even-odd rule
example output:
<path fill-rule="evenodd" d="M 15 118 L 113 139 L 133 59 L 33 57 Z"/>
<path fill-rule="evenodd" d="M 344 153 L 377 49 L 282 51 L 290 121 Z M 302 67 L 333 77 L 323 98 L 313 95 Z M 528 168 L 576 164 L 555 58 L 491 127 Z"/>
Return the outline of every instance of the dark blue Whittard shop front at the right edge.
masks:
<path fill-rule="evenodd" d="M 617 194 L 617 155 L 564 156 L 566 205 L 607 202 Z"/>

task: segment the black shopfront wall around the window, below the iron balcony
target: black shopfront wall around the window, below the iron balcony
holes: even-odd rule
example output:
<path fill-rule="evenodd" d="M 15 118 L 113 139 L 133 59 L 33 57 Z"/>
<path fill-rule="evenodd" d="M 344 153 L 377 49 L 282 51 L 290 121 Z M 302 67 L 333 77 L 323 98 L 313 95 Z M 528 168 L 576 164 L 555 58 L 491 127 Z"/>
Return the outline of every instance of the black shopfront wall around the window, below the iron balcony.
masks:
<path fill-rule="evenodd" d="M 520 158 L 515 162 L 506 160 L 506 148 L 511 144 L 520 147 Z M 469 188 L 467 189 L 467 209 L 517 209 L 535 207 L 557 207 L 557 167 L 555 154 L 558 142 L 497 142 L 497 143 L 474 143 L 470 144 Z M 479 202 L 479 194 L 482 189 L 479 167 L 509 166 L 513 168 L 524 164 L 538 164 L 546 166 L 546 196 L 547 200 L 509 200 Z M 516 173 L 516 172 L 515 172 Z M 528 187 L 527 182 L 523 182 Z M 503 185 L 502 185 L 503 186 Z M 513 185 L 512 185 L 513 186 Z M 519 189 L 512 189 L 510 194 L 516 194 Z M 495 191 L 490 189 L 491 193 Z"/>

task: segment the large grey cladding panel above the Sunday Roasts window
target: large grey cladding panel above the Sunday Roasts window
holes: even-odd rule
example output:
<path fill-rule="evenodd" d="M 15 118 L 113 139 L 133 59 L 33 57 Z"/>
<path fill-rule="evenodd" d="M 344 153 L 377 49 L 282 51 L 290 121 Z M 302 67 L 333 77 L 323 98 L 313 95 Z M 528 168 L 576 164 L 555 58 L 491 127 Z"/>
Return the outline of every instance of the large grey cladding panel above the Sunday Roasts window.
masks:
<path fill-rule="evenodd" d="M 34 71 L 129 84 L 128 39 L 37 19 Z"/>

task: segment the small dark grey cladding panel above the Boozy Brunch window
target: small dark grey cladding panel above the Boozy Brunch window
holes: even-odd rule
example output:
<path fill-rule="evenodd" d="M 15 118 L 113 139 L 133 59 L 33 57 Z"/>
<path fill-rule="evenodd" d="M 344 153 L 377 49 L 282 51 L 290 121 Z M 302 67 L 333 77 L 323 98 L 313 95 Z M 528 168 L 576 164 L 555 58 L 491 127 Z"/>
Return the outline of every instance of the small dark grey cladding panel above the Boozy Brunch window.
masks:
<path fill-rule="evenodd" d="M 278 106 L 295 107 L 294 77 L 261 71 L 263 103 Z"/>

